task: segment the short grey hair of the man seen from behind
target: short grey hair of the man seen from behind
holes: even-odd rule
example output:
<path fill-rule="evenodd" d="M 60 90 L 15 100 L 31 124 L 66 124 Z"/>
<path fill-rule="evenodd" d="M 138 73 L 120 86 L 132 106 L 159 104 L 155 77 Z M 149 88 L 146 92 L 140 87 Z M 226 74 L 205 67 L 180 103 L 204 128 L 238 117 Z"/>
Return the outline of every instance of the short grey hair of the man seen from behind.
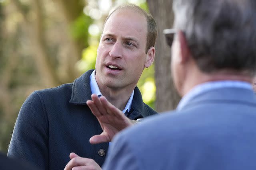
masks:
<path fill-rule="evenodd" d="M 203 72 L 256 70 L 255 0 L 174 0 L 174 27 Z"/>

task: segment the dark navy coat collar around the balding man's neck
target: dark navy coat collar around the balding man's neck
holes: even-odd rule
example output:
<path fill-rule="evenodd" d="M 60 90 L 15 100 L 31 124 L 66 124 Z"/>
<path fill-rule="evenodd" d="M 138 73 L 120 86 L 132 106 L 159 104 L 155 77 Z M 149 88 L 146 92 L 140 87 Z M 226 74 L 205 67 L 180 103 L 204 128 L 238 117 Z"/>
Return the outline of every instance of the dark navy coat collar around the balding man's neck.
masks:
<path fill-rule="evenodd" d="M 94 70 L 88 70 L 82 76 L 77 78 L 72 86 L 71 99 L 69 103 L 74 105 L 86 105 L 87 100 L 91 100 L 91 87 L 90 87 L 90 75 Z M 136 119 L 150 115 L 146 108 L 140 90 L 136 86 L 134 89 L 134 96 L 132 100 L 132 108 L 128 114 L 130 119 Z"/>

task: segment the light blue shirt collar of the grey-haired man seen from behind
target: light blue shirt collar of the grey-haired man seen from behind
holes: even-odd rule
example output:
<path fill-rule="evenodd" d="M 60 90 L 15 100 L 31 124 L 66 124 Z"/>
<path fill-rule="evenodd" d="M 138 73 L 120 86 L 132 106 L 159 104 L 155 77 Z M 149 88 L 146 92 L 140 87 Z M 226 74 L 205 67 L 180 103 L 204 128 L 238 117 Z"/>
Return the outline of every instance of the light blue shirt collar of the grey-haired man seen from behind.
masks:
<path fill-rule="evenodd" d="M 244 88 L 252 90 L 252 85 L 248 82 L 242 81 L 233 81 L 233 80 L 225 80 L 225 81 L 214 81 L 214 82 L 206 82 L 199 84 L 192 88 L 179 102 L 176 110 L 182 109 L 192 98 L 202 94 L 204 92 L 215 90 L 218 88 L 225 87 L 235 87 L 235 88 Z"/>

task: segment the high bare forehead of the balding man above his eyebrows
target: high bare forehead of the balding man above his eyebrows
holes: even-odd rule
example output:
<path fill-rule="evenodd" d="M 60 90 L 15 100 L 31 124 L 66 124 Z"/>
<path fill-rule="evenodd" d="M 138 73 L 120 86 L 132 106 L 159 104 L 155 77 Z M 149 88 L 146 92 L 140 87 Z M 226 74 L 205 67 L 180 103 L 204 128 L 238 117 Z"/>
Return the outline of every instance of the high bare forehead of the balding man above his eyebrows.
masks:
<path fill-rule="evenodd" d="M 130 10 L 116 10 L 105 23 L 103 34 L 122 34 L 123 36 L 145 36 L 147 33 L 147 22 L 145 16 Z"/>

